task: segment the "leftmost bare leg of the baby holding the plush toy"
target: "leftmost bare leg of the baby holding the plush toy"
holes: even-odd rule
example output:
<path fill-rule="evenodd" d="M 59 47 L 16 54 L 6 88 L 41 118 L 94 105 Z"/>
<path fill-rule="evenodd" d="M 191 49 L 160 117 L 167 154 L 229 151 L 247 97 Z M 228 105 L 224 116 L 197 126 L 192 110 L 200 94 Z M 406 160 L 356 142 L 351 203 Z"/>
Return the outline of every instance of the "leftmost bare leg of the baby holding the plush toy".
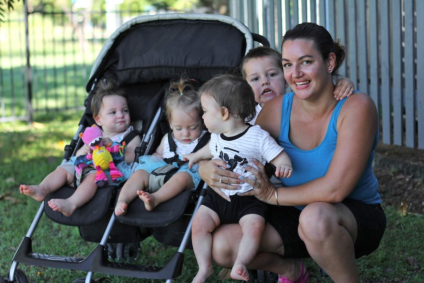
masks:
<path fill-rule="evenodd" d="M 36 201 L 43 201 L 47 194 L 62 188 L 65 185 L 73 185 L 74 176 L 63 169 L 57 167 L 47 175 L 40 185 L 20 185 L 19 191 L 28 195 Z"/>

